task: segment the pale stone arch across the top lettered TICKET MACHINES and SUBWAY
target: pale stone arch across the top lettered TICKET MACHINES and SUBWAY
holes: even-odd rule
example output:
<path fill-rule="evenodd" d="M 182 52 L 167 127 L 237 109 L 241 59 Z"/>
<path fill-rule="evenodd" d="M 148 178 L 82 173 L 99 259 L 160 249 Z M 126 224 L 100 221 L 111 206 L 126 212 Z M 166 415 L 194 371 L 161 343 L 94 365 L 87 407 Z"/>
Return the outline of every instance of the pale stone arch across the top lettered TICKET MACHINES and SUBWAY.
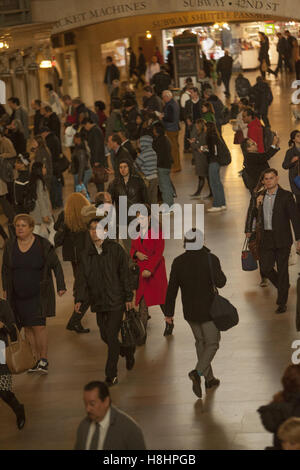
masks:
<path fill-rule="evenodd" d="M 244 12 L 271 17 L 300 19 L 299 0 L 53 0 L 53 9 L 58 12 L 54 33 L 80 26 L 101 23 L 118 18 L 147 14 L 177 13 L 190 11 Z M 35 19 L 38 16 L 37 0 Z M 52 5 L 52 2 L 51 2 Z M 41 8 L 41 7 L 40 7 Z M 41 8 L 42 11 L 42 8 Z M 42 18 L 40 19 L 42 21 Z"/>

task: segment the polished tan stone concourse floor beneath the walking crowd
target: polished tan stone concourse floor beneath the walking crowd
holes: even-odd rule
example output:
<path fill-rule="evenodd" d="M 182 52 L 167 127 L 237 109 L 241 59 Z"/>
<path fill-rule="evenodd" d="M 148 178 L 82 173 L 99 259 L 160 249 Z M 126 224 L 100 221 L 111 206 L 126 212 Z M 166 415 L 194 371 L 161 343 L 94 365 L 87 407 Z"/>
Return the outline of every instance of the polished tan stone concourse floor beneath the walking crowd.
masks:
<path fill-rule="evenodd" d="M 255 76 L 249 74 L 252 83 Z M 272 165 L 280 171 L 281 185 L 288 189 L 288 175 L 281 163 L 289 132 L 297 127 L 292 116 L 294 106 L 290 106 L 290 82 L 291 78 L 285 77 L 270 81 L 274 93 L 271 124 L 281 136 L 282 147 Z M 120 360 L 120 384 L 111 390 L 113 402 L 143 428 L 149 449 L 263 449 L 270 445 L 271 435 L 265 432 L 256 410 L 280 389 L 282 372 L 291 360 L 291 344 L 299 339 L 295 329 L 298 264 L 290 267 L 288 311 L 280 316 L 274 314 L 274 288 L 260 288 L 258 272 L 241 270 L 249 194 L 238 177 L 242 157 L 232 145 L 230 125 L 224 129 L 224 136 L 233 157 L 224 171 L 228 210 L 206 214 L 205 237 L 207 246 L 221 259 L 227 276 L 222 294 L 238 308 L 240 324 L 222 334 L 213 364 L 220 387 L 198 400 L 187 377 L 195 366 L 196 355 L 191 331 L 183 320 L 180 295 L 171 338 L 162 336 L 160 309 L 151 309 L 147 344 L 138 349 L 132 371 L 126 371 L 124 360 Z M 173 178 L 177 202 L 188 203 L 196 185 L 190 155 L 182 157 L 182 166 L 183 171 Z M 168 271 L 182 250 L 181 240 L 166 243 Z M 84 325 L 91 328 L 90 334 L 78 336 L 65 329 L 73 305 L 68 263 L 64 271 L 68 293 L 58 299 L 57 316 L 48 322 L 49 375 L 14 378 L 15 392 L 26 407 L 27 422 L 24 430 L 18 431 L 12 412 L 0 403 L 0 449 L 71 449 L 85 415 L 83 386 L 104 378 L 106 347 L 99 338 L 94 314 L 88 313 L 84 320 Z"/>

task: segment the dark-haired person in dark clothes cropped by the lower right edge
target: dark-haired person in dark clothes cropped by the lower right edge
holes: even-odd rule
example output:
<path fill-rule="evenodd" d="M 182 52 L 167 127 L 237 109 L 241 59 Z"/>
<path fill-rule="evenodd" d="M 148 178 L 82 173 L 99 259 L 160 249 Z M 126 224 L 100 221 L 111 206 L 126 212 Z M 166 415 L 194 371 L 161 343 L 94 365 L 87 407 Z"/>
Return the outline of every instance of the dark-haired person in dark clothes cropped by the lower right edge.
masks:
<path fill-rule="evenodd" d="M 274 449 L 281 450 L 277 431 L 291 417 L 300 417 L 300 364 L 290 365 L 282 377 L 283 390 L 274 395 L 269 405 L 261 406 L 260 414 L 265 429 L 274 434 Z"/>

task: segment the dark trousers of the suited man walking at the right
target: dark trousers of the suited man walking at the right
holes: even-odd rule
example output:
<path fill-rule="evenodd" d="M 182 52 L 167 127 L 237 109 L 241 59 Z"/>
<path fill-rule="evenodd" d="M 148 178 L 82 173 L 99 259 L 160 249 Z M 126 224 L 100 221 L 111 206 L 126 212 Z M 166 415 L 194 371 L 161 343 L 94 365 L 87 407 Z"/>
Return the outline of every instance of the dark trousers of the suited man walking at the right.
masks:
<path fill-rule="evenodd" d="M 274 232 L 265 230 L 260 247 L 260 268 L 263 277 L 268 278 L 277 288 L 277 305 L 286 305 L 289 295 L 290 246 L 276 247 Z M 276 263 L 277 271 L 274 269 Z"/>

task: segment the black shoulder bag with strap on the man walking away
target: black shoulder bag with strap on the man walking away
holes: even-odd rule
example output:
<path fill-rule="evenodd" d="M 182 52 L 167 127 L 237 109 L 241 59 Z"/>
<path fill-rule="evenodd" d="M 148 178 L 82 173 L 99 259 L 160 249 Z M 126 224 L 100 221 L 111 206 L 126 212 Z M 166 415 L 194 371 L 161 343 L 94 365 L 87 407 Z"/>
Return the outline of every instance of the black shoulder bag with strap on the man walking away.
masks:
<path fill-rule="evenodd" d="M 210 308 L 210 316 L 219 331 L 227 331 L 238 324 L 239 315 L 237 309 L 229 302 L 229 300 L 219 295 L 214 281 L 210 254 L 208 254 L 208 263 L 215 292 L 215 296 Z"/>

